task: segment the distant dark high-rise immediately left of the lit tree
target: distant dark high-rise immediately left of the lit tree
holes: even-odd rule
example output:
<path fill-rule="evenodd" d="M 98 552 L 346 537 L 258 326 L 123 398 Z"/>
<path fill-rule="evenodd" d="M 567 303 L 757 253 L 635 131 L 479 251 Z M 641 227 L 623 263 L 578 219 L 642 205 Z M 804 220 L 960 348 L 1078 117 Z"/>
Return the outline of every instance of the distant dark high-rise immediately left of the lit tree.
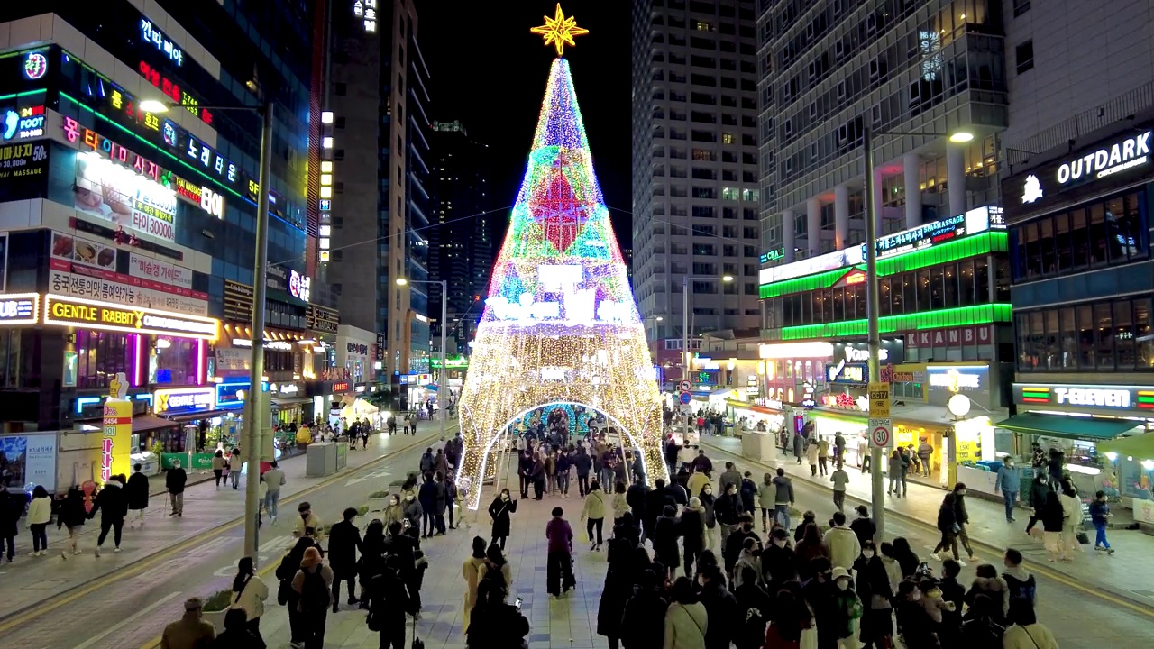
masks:
<path fill-rule="evenodd" d="M 449 284 L 445 353 L 469 353 L 481 296 L 488 294 L 493 270 L 493 238 L 489 233 L 488 144 L 469 136 L 459 120 L 434 121 L 432 134 L 433 222 L 429 241 L 429 275 Z M 429 294 L 435 313 L 441 286 Z M 437 315 L 440 318 L 440 315 Z M 432 328 L 433 345 L 440 344 L 441 323 Z"/>

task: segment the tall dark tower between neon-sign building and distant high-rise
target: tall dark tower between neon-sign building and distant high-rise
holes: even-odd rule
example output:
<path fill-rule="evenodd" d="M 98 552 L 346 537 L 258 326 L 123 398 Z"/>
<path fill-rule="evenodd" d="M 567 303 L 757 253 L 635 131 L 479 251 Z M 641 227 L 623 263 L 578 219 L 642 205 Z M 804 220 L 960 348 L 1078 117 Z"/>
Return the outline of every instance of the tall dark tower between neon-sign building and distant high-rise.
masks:
<path fill-rule="evenodd" d="M 358 2 L 331 17 L 327 273 L 343 314 L 338 365 L 380 364 L 358 380 L 428 371 L 428 70 L 413 5 Z"/>

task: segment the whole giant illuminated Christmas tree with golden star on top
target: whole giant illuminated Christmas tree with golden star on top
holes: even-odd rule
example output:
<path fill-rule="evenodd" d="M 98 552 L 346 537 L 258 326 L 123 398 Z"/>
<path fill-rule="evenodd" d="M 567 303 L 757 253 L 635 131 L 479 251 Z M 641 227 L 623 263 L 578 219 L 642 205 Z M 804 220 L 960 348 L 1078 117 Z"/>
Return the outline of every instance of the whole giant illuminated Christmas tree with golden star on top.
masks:
<path fill-rule="evenodd" d="M 627 448 L 640 448 L 652 482 L 661 458 L 661 395 L 625 263 L 609 224 L 569 62 L 584 33 L 557 7 L 534 33 L 556 45 L 541 115 L 509 231 L 493 268 L 460 394 L 465 455 L 459 482 L 480 502 L 496 468 L 493 441 L 510 420 L 549 403 L 606 415 Z"/>

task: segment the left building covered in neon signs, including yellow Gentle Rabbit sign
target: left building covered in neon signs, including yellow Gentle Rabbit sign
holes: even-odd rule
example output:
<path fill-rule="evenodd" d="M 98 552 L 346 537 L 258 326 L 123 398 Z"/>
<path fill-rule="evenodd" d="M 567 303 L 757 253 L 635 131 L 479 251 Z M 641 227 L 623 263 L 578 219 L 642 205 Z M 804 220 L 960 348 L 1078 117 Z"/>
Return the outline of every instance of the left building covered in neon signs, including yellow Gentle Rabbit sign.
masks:
<path fill-rule="evenodd" d="M 138 404 L 141 449 L 185 450 L 187 422 L 197 445 L 235 440 L 252 383 L 275 393 L 279 419 L 327 410 L 306 396 L 329 391 L 338 320 L 313 301 L 306 254 L 317 7 L 275 6 L 0 9 L 9 430 L 98 420 L 117 382 Z M 145 112 L 147 99 L 171 106 Z M 262 102 L 276 114 L 270 263 L 254 277 L 261 117 L 203 106 Z M 262 378 L 248 366 L 254 282 L 268 288 Z"/>

